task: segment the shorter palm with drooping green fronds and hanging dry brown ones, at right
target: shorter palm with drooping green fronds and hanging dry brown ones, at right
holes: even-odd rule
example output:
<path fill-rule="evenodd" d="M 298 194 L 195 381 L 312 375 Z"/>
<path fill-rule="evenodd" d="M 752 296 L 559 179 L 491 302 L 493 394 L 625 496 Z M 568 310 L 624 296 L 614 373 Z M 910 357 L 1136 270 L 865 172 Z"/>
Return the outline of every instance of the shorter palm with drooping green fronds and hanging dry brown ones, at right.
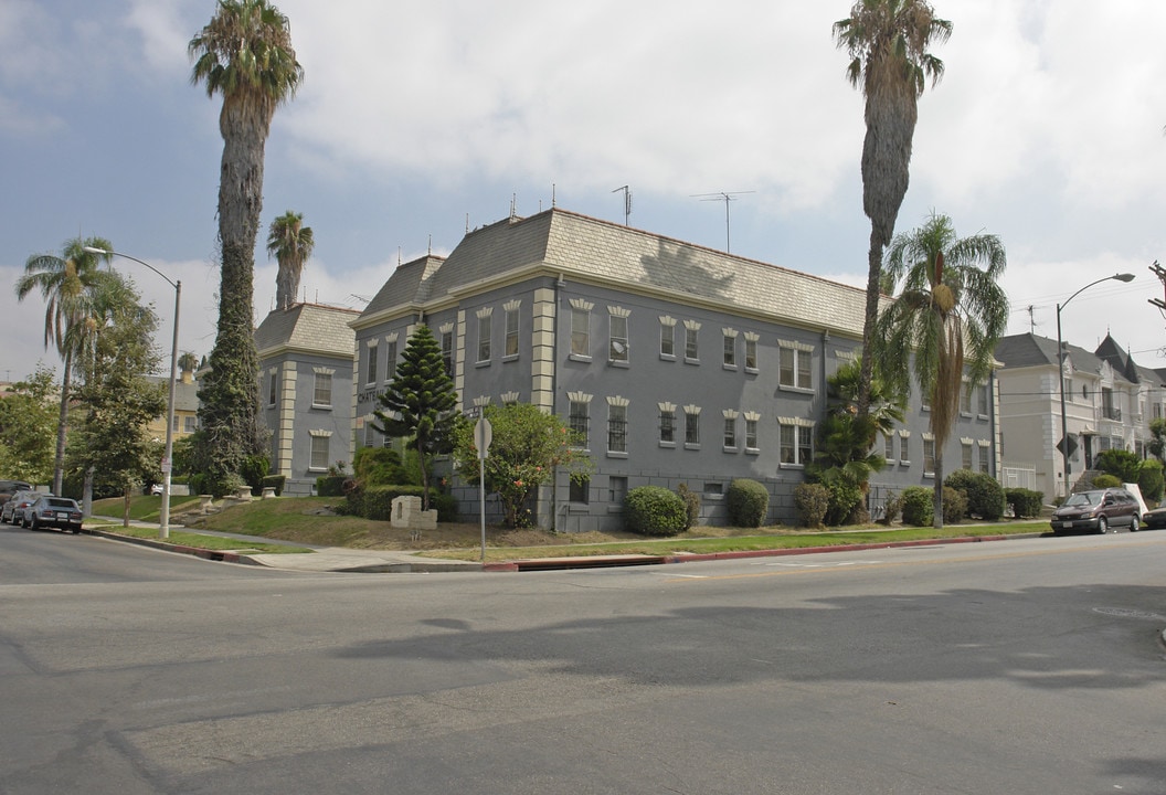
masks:
<path fill-rule="evenodd" d="M 887 251 L 887 277 L 902 287 L 879 316 L 876 356 L 893 388 L 907 388 L 913 370 L 920 394 L 930 400 L 935 527 L 943 527 L 943 446 L 964 375 L 970 385 L 988 380 L 1007 328 L 1009 298 L 999 284 L 1006 266 L 998 237 L 957 238 L 951 219 L 934 212 L 918 230 L 895 235 Z"/>

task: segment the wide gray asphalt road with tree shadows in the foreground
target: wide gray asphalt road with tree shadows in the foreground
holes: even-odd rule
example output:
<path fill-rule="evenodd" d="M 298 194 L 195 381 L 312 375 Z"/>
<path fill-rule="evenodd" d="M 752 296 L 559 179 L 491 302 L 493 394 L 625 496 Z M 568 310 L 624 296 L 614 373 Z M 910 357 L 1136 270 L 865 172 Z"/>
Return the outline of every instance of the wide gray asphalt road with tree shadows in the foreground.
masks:
<path fill-rule="evenodd" d="M 1166 533 L 304 575 L 0 527 L 0 793 L 1166 793 Z"/>

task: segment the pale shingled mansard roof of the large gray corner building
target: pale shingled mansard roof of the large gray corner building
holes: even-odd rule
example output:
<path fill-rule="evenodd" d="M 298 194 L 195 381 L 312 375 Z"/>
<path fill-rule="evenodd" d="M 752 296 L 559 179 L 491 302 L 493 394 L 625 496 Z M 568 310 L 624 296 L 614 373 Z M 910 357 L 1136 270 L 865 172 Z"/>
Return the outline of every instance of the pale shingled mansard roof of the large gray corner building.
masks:
<path fill-rule="evenodd" d="M 863 330 L 861 288 L 557 207 L 475 230 L 445 260 L 427 256 L 398 267 L 361 319 L 448 302 L 466 286 L 532 269 L 726 304 L 855 337 Z"/>

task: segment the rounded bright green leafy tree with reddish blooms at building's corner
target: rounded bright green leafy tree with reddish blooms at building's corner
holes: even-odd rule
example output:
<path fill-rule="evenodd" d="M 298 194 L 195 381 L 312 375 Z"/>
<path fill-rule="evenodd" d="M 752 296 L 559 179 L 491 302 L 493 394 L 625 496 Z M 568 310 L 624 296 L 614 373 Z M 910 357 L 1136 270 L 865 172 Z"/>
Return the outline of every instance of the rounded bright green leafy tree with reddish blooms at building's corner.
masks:
<path fill-rule="evenodd" d="M 582 436 L 557 415 L 531 403 L 507 403 L 486 406 L 483 416 L 493 431 L 484 467 L 486 491 L 501 501 L 507 527 L 528 523 L 527 506 L 540 486 L 554 483 L 556 471 L 567 471 L 577 483 L 590 474 L 591 459 L 583 452 Z M 462 477 L 478 483 L 478 450 L 470 423 L 458 429 L 454 456 Z"/>

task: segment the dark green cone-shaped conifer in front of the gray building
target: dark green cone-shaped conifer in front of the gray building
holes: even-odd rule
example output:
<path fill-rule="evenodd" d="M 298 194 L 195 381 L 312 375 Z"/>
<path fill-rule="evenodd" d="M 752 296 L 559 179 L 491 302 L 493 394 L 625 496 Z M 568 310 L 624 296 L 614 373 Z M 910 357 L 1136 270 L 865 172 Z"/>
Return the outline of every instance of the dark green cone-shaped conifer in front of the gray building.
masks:
<path fill-rule="evenodd" d="M 380 394 L 381 408 L 373 411 L 373 428 L 391 438 L 406 439 L 415 450 L 423 488 L 421 509 L 429 509 L 429 487 L 436 456 L 454 449 L 454 431 L 462 422 L 457 413 L 454 379 L 445 372 L 441 346 L 429 326 L 421 325 L 409 337 L 396 374 Z"/>

